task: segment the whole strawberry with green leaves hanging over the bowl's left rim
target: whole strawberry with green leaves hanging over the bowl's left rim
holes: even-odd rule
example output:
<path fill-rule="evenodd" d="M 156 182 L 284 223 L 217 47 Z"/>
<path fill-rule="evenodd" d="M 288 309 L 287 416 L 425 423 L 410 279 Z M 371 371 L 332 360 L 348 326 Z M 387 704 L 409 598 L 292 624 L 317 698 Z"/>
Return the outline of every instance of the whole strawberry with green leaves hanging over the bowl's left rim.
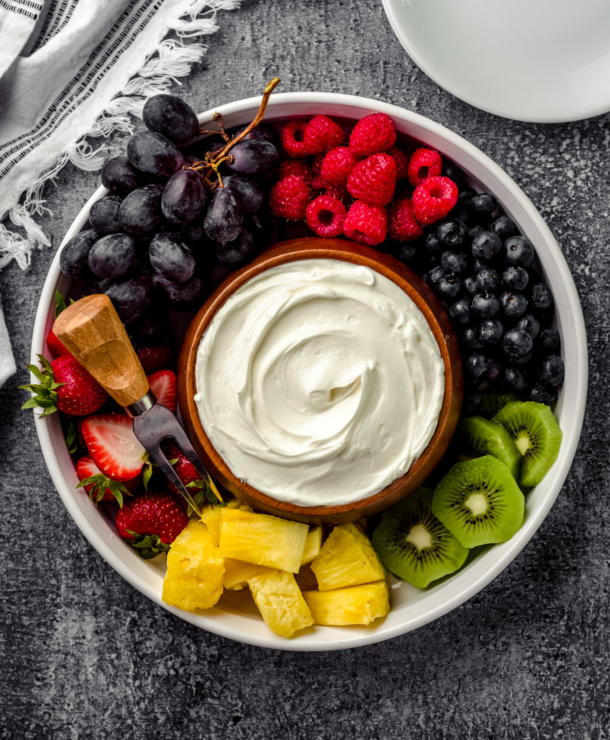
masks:
<path fill-rule="evenodd" d="M 86 416 L 97 411 L 108 399 L 108 394 L 95 378 L 84 369 L 71 354 L 62 354 L 52 363 L 38 355 L 42 368 L 28 365 L 27 368 L 41 381 L 19 386 L 35 395 L 21 408 L 43 409 L 42 416 L 53 411 L 63 411 L 69 416 Z"/>

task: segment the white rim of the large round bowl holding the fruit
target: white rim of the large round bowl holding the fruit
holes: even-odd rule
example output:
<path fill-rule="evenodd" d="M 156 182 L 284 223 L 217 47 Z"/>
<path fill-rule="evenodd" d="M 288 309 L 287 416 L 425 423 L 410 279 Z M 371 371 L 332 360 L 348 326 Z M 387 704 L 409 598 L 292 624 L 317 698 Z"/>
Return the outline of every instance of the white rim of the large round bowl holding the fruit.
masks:
<path fill-rule="evenodd" d="M 223 115 L 226 125 L 231 126 L 231 116 L 235 118 L 240 114 L 243 115 L 247 110 L 256 110 L 259 103 L 260 97 L 255 97 L 211 109 L 199 116 L 200 123 L 203 124 L 211 121 L 211 116 L 214 112 L 219 111 Z M 424 608 L 421 608 L 419 613 L 398 625 L 388 626 L 385 622 L 382 622 L 378 627 L 374 629 L 371 628 L 366 631 L 359 630 L 359 628 L 356 628 L 355 631 L 350 630 L 350 628 L 312 628 L 312 630 L 314 630 L 313 633 L 305 633 L 297 636 L 295 639 L 281 638 L 270 631 L 261 632 L 260 634 L 248 633 L 243 629 L 225 624 L 222 620 L 216 621 L 207 616 L 206 613 L 186 612 L 174 607 L 169 607 L 161 601 L 161 594 L 158 588 L 154 588 L 149 582 L 147 582 L 146 578 L 143 577 L 144 571 L 140 568 L 140 564 L 143 564 L 143 561 L 141 561 L 135 554 L 130 557 L 130 554 L 125 555 L 122 551 L 121 556 L 119 556 L 118 552 L 115 551 L 117 542 L 121 545 L 121 548 L 124 547 L 126 551 L 129 551 L 130 548 L 124 546 L 118 536 L 101 532 L 94 528 L 91 522 L 89 522 L 87 514 L 90 512 L 86 508 L 87 505 L 89 505 L 89 502 L 87 500 L 87 503 L 84 505 L 84 497 L 75 497 L 73 485 L 70 485 L 70 483 L 67 482 L 66 471 L 61 467 L 60 461 L 58 460 L 57 454 L 54 450 L 53 440 L 56 440 L 57 438 L 56 433 L 58 424 L 55 422 L 54 426 L 54 417 L 42 418 L 35 416 L 35 426 L 38 433 L 38 439 L 41 444 L 42 453 L 61 500 L 64 502 L 64 505 L 70 512 L 70 515 L 72 519 L 74 519 L 78 528 L 84 536 L 87 537 L 95 550 L 97 550 L 98 553 L 104 557 L 106 562 L 108 562 L 112 568 L 115 568 L 115 571 L 123 576 L 126 581 L 135 586 L 135 588 L 138 588 L 141 593 L 148 596 L 149 599 L 160 607 L 172 612 L 174 615 L 179 616 L 187 622 L 191 622 L 197 627 L 204 628 L 220 636 L 228 637 L 229 639 L 234 639 L 238 642 L 244 642 L 250 645 L 271 647 L 279 650 L 298 651 L 341 650 L 348 647 L 370 645 L 375 642 L 381 642 L 382 640 L 399 636 L 409 632 L 410 630 L 416 629 L 421 625 L 427 624 L 428 622 L 432 622 L 434 619 L 438 619 L 438 617 L 443 616 L 445 613 L 458 607 L 467 601 L 467 599 L 470 599 L 471 596 L 474 596 L 475 593 L 478 593 L 481 588 L 484 588 L 484 586 L 491 582 L 498 573 L 501 573 L 501 571 L 503 571 L 504 568 L 512 562 L 512 559 L 518 555 L 529 539 L 531 539 L 533 534 L 535 534 L 535 531 L 546 517 L 546 514 L 548 514 L 553 502 L 555 502 L 560 488 L 566 479 L 580 438 L 588 383 L 586 329 L 583 312 L 580 306 L 580 299 L 576 291 L 574 280 L 572 279 L 566 260 L 563 257 L 563 253 L 555 241 L 555 238 L 553 238 L 549 227 L 546 226 L 546 223 L 538 213 L 538 210 L 535 209 L 535 206 L 531 201 L 529 201 L 529 198 L 527 198 L 521 188 L 512 181 L 512 178 L 510 178 L 509 175 L 501 169 L 501 167 L 487 157 L 487 155 L 449 129 L 446 129 L 440 124 L 436 124 L 434 121 L 430 121 L 430 119 L 424 118 L 417 113 L 370 98 L 361 98 L 356 95 L 344 95 L 331 92 L 275 93 L 274 95 L 271 95 L 269 100 L 266 118 L 268 120 L 273 120 L 274 111 L 277 118 L 284 118 L 285 113 L 282 113 L 281 111 L 286 107 L 298 108 L 299 106 L 311 107 L 312 105 L 317 107 L 317 112 L 323 112 L 321 109 L 324 107 L 327 109 L 332 107 L 333 112 L 329 115 L 345 115 L 345 118 L 360 118 L 362 115 L 367 115 L 369 112 L 384 112 L 390 118 L 393 118 L 395 122 L 398 119 L 401 124 L 407 124 L 411 129 L 410 135 L 413 135 L 421 141 L 426 141 L 429 146 L 437 147 L 441 152 L 446 152 L 447 147 L 455 149 L 455 152 L 452 152 L 451 158 L 456 162 L 456 164 L 458 164 L 458 166 L 464 166 L 464 163 L 467 163 L 472 167 L 472 169 L 475 169 L 476 172 L 471 172 L 474 178 L 478 177 L 479 174 L 487 174 L 489 175 L 489 178 L 495 180 L 495 189 L 492 192 L 494 192 L 494 195 L 498 197 L 498 201 L 503 204 L 504 210 L 508 212 L 509 215 L 512 215 L 512 211 L 510 210 L 510 207 L 507 206 L 514 206 L 520 210 L 522 216 L 521 222 L 523 222 L 523 220 L 528 221 L 530 229 L 537 232 L 538 244 L 541 245 L 537 245 L 537 251 L 540 252 L 540 249 L 542 249 L 544 252 L 544 255 L 540 256 L 546 258 L 547 263 L 549 265 L 552 264 L 553 269 L 558 273 L 559 283 L 562 286 L 563 294 L 561 297 L 555 295 L 555 303 L 558 306 L 558 309 L 565 314 L 566 321 L 572 322 L 573 324 L 572 329 L 575 345 L 570 348 L 571 351 L 569 359 L 574 376 L 571 377 L 571 380 L 575 383 L 575 388 L 571 392 L 569 398 L 568 411 L 571 414 L 571 424 L 569 425 L 569 428 L 563 429 L 564 437 L 562 454 L 560 459 L 555 462 L 555 465 L 553 465 L 545 479 L 547 482 L 546 487 L 549 488 L 549 490 L 546 494 L 543 494 L 542 499 L 536 505 L 535 511 L 526 515 L 523 526 L 518 533 L 512 537 L 512 539 L 499 545 L 493 545 L 489 551 L 478 555 L 477 560 L 479 562 L 487 562 L 487 568 L 467 568 L 466 570 L 458 571 L 458 573 L 450 576 L 449 579 L 441 582 L 440 585 L 436 586 L 431 591 L 425 592 L 424 596 L 417 601 L 418 605 L 424 605 L 424 602 L 427 602 L 424 605 Z M 345 109 L 344 113 L 342 113 L 343 109 Z M 298 116 L 305 114 L 302 112 L 293 112 L 291 115 Z M 237 121 L 237 123 L 239 123 L 239 121 Z M 416 132 L 425 134 L 425 138 L 424 135 L 417 135 Z M 44 354 L 44 350 L 46 349 L 45 339 L 50 326 L 52 325 L 52 306 L 54 305 L 55 290 L 58 288 L 58 283 L 61 283 L 62 280 L 64 281 L 64 284 L 67 284 L 68 282 L 67 279 L 61 275 L 61 271 L 59 269 L 59 253 L 61 252 L 61 247 L 64 246 L 72 236 L 81 231 L 84 224 L 87 222 L 89 207 L 99 198 L 104 197 L 106 192 L 107 191 L 104 186 L 100 186 L 93 193 L 91 198 L 89 198 L 89 201 L 85 203 L 83 209 L 81 209 L 81 212 L 72 223 L 72 226 L 70 226 L 64 240 L 62 240 L 60 249 L 58 249 L 55 258 L 52 260 L 35 316 L 32 339 L 32 363 L 37 363 L 37 354 Z M 529 238 L 532 238 L 530 232 L 528 231 L 527 233 Z M 64 455 L 64 461 L 66 458 L 68 460 L 70 459 L 67 457 L 67 451 Z M 70 467 L 73 471 L 73 466 L 71 465 Z M 98 518 L 101 519 L 99 515 Z M 492 554 L 492 557 L 489 557 L 489 554 Z M 472 565 L 476 565 L 476 563 L 473 562 Z"/>

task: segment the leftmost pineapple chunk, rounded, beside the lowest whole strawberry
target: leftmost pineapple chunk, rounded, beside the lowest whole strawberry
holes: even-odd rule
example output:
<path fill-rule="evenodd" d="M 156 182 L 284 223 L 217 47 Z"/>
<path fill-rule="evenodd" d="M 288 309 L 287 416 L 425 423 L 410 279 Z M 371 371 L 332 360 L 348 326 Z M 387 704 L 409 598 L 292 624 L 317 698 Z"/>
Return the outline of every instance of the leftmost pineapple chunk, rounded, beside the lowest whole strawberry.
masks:
<path fill-rule="evenodd" d="M 223 593 L 223 556 L 208 528 L 191 519 L 172 542 L 161 598 L 170 606 L 209 609 Z"/>

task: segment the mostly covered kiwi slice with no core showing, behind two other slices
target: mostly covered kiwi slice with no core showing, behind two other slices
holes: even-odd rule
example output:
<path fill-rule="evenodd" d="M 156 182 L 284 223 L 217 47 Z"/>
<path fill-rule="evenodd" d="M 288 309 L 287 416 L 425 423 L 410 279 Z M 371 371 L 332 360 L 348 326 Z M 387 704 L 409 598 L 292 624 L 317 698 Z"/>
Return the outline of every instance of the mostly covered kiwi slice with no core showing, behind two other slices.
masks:
<path fill-rule="evenodd" d="M 483 417 L 466 417 L 460 422 L 461 455 L 458 462 L 493 455 L 509 469 L 515 480 L 521 473 L 521 452 L 506 429 Z"/>

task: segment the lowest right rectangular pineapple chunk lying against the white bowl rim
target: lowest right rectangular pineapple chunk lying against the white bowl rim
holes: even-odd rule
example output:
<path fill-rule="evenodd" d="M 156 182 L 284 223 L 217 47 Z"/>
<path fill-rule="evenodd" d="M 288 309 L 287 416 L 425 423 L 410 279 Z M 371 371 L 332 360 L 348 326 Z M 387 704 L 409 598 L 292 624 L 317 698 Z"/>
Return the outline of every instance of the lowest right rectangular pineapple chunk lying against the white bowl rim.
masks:
<path fill-rule="evenodd" d="M 303 591 L 316 625 L 370 625 L 390 611 L 387 583 L 365 583 L 333 591 Z"/>

